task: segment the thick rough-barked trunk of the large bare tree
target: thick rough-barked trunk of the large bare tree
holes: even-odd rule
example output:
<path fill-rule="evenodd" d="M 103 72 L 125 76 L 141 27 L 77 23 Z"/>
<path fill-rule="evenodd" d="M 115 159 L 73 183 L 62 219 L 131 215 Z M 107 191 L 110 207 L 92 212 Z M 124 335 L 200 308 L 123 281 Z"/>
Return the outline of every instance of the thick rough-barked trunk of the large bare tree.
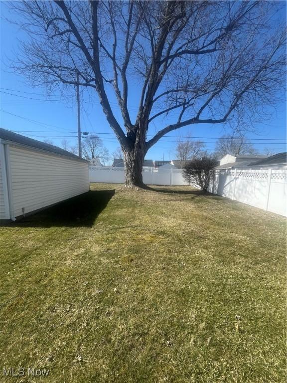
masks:
<path fill-rule="evenodd" d="M 125 165 L 125 184 L 129 188 L 143 188 L 143 160 L 145 151 L 143 148 L 123 149 Z"/>

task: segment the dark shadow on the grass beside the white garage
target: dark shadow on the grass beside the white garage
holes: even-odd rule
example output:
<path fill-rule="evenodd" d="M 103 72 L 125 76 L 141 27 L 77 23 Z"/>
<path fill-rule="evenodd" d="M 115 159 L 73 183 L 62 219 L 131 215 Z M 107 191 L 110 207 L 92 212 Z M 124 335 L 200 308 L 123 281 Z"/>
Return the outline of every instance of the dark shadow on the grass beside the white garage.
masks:
<path fill-rule="evenodd" d="M 17 227 L 92 227 L 107 206 L 115 190 L 89 191 L 35 214 L 23 217 L 9 226 Z"/>

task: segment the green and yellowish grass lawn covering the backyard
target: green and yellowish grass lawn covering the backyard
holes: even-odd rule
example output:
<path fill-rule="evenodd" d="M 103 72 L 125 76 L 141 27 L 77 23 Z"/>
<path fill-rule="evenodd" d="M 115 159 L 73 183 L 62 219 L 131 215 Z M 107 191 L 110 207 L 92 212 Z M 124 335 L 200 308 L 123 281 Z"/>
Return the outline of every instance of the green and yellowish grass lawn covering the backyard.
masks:
<path fill-rule="evenodd" d="M 0 381 L 286 381 L 286 221 L 190 187 L 89 192 L 0 228 Z M 49 369 L 2 377 L 3 367 Z"/>

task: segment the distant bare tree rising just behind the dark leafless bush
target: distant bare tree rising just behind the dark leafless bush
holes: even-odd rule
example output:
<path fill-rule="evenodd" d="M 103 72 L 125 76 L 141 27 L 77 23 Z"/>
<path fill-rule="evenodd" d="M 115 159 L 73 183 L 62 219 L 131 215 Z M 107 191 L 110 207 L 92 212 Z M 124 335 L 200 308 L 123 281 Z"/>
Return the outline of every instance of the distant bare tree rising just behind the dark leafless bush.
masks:
<path fill-rule="evenodd" d="M 204 147 L 205 145 L 202 141 L 193 141 L 190 133 L 187 133 L 185 137 L 179 138 L 175 147 L 175 156 L 180 161 L 181 168 L 184 168 L 186 161 L 203 157 Z"/>

